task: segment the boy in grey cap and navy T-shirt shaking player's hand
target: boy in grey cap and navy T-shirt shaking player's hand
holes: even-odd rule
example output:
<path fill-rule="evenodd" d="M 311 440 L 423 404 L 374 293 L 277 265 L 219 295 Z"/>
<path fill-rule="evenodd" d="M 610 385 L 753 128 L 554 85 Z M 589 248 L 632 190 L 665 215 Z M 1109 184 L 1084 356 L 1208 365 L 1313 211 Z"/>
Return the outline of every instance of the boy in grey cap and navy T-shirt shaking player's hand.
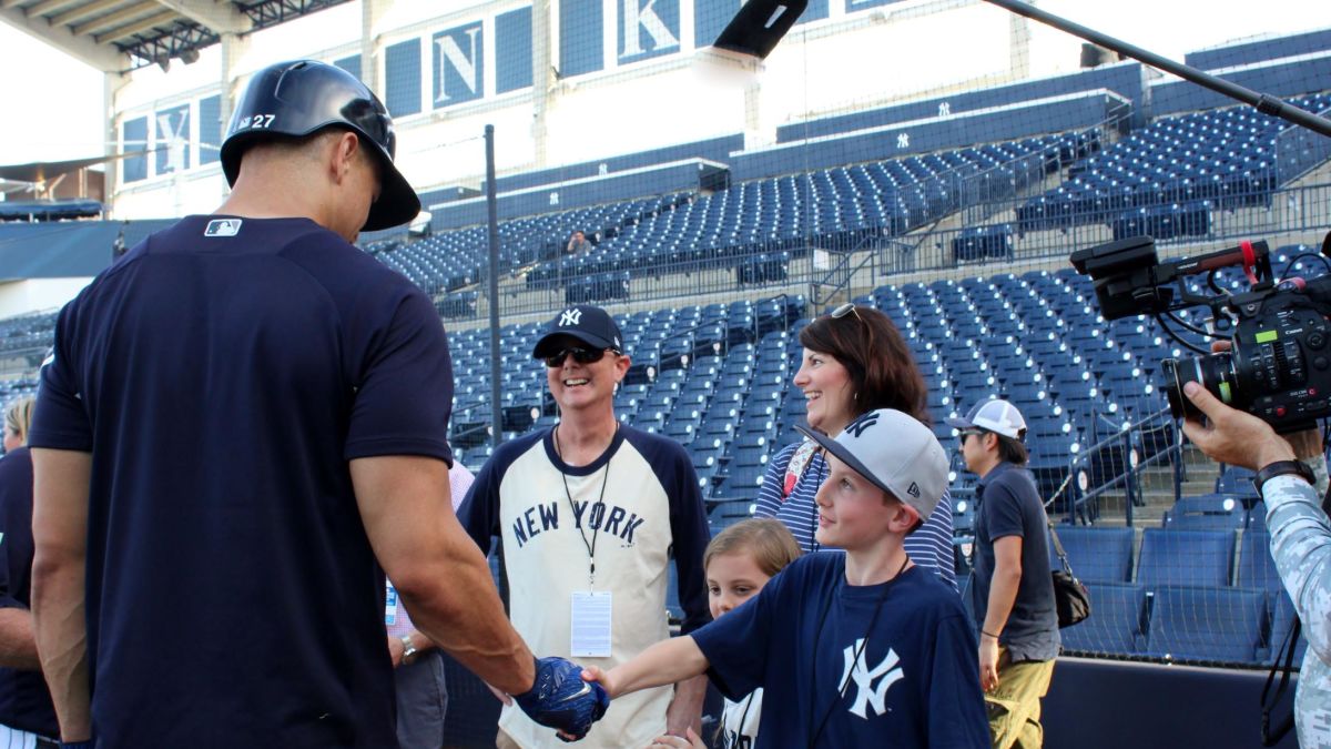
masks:
<path fill-rule="evenodd" d="M 942 446 L 892 409 L 835 440 L 805 433 L 832 469 L 815 500 L 817 541 L 845 553 L 805 554 L 724 617 L 583 678 L 612 696 L 699 673 L 731 698 L 761 686 L 759 748 L 988 748 L 961 600 L 901 544 L 946 488 Z"/>

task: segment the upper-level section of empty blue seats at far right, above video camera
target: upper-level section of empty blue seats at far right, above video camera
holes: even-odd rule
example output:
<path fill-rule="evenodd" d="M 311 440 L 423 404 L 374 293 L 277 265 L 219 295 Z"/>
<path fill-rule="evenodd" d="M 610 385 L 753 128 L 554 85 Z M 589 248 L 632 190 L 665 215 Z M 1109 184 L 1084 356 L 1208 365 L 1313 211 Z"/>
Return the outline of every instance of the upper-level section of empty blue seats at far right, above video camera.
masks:
<path fill-rule="evenodd" d="M 1331 95 L 1292 103 L 1318 112 Z M 1276 136 L 1288 127 L 1247 107 L 1157 119 L 1028 200 L 1017 209 L 1017 229 L 1109 224 L 1115 237 L 1206 235 L 1213 208 L 1268 204 L 1279 187 Z"/>

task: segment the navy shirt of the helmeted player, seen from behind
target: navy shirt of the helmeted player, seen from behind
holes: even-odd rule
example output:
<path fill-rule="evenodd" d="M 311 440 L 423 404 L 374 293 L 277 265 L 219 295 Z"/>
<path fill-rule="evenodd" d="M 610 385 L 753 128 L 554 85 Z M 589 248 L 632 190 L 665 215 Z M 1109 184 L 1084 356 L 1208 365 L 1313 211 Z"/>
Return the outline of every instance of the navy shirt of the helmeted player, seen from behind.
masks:
<path fill-rule="evenodd" d="M 393 746 L 347 461 L 451 462 L 430 300 L 305 219 L 188 217 L 56 324 L 31 444 L 92 453 L 98 748 Z"/>

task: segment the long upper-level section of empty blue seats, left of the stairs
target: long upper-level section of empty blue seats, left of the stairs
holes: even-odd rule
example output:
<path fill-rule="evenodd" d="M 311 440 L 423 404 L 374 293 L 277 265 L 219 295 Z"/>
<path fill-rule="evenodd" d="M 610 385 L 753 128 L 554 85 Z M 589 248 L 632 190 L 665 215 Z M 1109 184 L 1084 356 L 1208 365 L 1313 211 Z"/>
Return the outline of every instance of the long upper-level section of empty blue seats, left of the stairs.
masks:
<path fill-rule="evenodd" d="M 663 267 L 737 268 L 739 283 L 781 281 L 785 265 L 809 247 L 852 249 L 864 237 L 897 236 L 965 205 L 1013 197 L 1014 191 L 1098 148 L 1091 131 L 1041 136 L 752 180 L 707 195 L 676 193 L 506 220 L 499 225 L 502 267 L 535 263 L 526 273 L 532 289 Z M 419 241 L 387 239 L 370 244 L 369 251 L 430 292 L 478 283 L 488 257 L 484 227 L 435 229 Z M 588 232 L 595 249 L 562 257 L 572 229 Z M 619 297 L 598 296 L 595 289 L 591 296 L 578 293 Z"/>

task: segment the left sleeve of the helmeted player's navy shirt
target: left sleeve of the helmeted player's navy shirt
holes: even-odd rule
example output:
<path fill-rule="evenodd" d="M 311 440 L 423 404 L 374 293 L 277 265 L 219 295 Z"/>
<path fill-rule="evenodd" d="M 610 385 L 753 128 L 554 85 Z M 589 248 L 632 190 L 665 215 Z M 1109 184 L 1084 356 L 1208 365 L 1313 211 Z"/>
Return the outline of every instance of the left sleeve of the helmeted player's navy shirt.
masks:
<path fill-rule="evenodd" d="M 77 304 L 76 299 L 60 311 L 55 355 L 41 368 L 41 385 L 28 434 L 28 444 L 35 448 L 92 452 L 92 421 L 84 408 L 79 361 L 71 345 L 77 324 Z"/>

